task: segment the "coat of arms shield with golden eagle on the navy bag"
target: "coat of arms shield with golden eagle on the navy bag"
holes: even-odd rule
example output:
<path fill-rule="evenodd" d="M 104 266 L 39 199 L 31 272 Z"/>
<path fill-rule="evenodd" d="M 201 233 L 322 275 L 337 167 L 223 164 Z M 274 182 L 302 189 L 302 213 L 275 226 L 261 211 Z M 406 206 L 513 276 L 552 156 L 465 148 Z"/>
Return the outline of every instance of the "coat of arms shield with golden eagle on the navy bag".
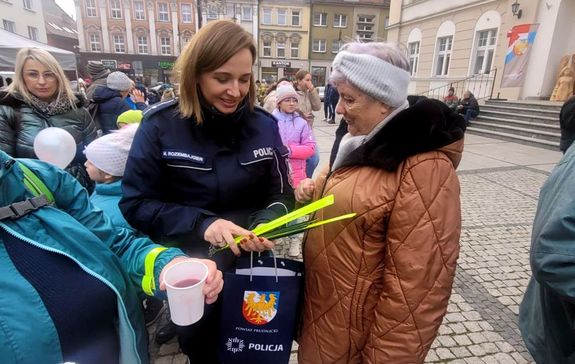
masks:
<path fill-rule="evenodd" d="M 265 325 L 278 312 L 279 291 L 244 291 L 242 313 L 254 325 Z"/>

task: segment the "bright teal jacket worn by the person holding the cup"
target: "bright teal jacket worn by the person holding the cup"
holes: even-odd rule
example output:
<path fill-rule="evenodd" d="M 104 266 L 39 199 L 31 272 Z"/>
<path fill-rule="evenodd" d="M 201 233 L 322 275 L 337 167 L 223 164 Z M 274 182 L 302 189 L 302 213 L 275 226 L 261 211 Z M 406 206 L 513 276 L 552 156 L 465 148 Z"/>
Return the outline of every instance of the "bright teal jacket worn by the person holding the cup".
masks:
<path fill-rule="evenodd" d="M 0 206 L 34 197 L 25 189 L 22 170 L 10 159 L 0 151 Z M 57 207 L 45 206 L 21 218 L 0 221 L 0 229 L 23 243 L 67 256 L 110 287 L 118 302 L 120 361 L 147 363 L 147 333 L 138 294 L 143 294 L 145 257 L 159 246 L 149 239 L 135 238 L 126 229 L 113 228 L 104 213 L 90 203 L 86 190 L 69 174 L 38 160 L 19 162 L 44 182 Z M 183 255 L 179 249 L 168 249 L 157 257 L 156 286 L 161 269 L 179 255 Z M 56 328 L 34 288 L 12 264 L 1 240 L 0 277 L 1 361 L 61 363 Z"/>

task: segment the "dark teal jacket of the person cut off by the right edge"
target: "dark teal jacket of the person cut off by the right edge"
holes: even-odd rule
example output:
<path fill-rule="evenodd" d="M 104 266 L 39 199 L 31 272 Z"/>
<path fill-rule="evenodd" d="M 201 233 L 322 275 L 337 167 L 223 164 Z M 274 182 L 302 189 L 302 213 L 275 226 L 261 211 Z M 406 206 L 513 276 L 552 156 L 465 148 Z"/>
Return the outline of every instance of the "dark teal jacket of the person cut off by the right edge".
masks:
<path fill-rule="evenodd" d="M 519 307 L 537 363 L 575 363 L 575 147 L 541 188 L 531 235 L 533 276 Z"/>

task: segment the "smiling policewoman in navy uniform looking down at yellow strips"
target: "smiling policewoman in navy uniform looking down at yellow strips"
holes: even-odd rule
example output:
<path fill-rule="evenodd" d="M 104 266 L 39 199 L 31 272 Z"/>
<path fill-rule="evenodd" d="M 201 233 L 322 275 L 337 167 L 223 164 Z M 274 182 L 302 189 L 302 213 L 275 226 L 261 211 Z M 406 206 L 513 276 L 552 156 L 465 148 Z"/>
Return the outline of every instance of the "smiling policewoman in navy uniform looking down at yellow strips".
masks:
<path fill-rule="evenodd" d="M 233 267 L 240 248 L 271 249 L 250 229 L 293 206 L 288 151 L 275 119 L 255 108 L 255 57 L 241 26 L 202 27 L 176 62 L 179 98 L 145 111 L 123 179 L 120 208 L 132 226 L 222 270 Z M 216 252 L 226 244 L 231 251 Z M 197 324 L 178 328 L 193 363 L 217 363 L 218 318 L 216 304 Z"/>

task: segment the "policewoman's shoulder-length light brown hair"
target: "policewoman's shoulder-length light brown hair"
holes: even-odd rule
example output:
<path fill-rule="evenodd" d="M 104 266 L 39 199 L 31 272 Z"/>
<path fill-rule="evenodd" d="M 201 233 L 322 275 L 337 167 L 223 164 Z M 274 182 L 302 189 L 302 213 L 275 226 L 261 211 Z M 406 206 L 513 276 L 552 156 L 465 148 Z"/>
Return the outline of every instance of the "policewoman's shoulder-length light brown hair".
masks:
<path fill-rule="evenodd" d="M 242 49 L 250 51 L 253 65 L 256 47 L 252 35 L 229 20 L 210 22 L 192 38 L 174 66 L 176 82 L 180 85 L 178 93 L 182 117 L 193 117 L 198 124 L 203 122 L 199 98 L 200 75 L 218 69 Z M 253 111 L 256 104 L 253 74 L 247 97 L 250 111 Z"/>

